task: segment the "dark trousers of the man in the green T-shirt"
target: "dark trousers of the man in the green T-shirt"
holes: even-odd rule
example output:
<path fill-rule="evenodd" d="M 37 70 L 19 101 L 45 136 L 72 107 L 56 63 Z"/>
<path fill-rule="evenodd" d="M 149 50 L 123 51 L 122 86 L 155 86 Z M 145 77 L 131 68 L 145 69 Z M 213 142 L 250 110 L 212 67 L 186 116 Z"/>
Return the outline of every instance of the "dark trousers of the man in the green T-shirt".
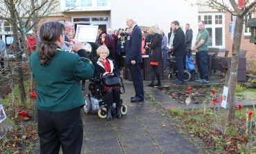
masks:
<path fill-rule="evenodd" d="M 201 79 L 209 79 L 208 50 L 196 52 L 196 64 Z"/>

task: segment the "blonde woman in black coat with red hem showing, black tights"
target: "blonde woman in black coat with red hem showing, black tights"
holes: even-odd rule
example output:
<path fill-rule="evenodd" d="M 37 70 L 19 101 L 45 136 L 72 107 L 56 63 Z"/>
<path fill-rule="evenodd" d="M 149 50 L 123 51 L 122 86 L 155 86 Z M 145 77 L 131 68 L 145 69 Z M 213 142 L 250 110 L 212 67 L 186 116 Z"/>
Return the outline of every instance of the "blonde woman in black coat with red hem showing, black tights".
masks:
<path fill-rule="evenodd" d="M 146 48 L 149 48 L 149 64 L 152 68 L 152 81 L 148 86 L 161 86 L 160 73 L 158 71 L 158 64 L 162 59 L 162 35 L 158 32 L 158 29 L 155 26 L 152 26 L 149 29 L 149 34 L 152 35 L 152 40 L 147 44 Z M 155 75 L 157 78 L 157 84 L 154 85 Z"/>

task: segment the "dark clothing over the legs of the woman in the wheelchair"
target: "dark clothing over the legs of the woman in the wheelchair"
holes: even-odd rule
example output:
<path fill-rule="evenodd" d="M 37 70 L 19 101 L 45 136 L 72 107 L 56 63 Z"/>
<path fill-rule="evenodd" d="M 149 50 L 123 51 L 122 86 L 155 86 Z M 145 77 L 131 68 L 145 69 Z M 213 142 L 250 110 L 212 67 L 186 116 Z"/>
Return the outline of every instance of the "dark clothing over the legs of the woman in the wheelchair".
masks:
<path fill-rule="evenodd" d="M 111 107 L 113 103 L 116 103 L 116 106 L 120 106 L 120 88 L 108 89 L 104 93 L 104 100 L 107 104 L 107 108 Z"/>

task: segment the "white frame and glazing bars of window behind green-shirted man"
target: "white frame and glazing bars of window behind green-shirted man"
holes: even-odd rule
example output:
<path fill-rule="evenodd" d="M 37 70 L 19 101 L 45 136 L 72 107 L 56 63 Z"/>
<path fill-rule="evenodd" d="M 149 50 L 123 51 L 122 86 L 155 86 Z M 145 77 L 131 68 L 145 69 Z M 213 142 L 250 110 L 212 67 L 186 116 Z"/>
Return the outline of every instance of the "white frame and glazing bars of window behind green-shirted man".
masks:
<path fill-rule="evenodd" d="M 211 15 L 212 16 L 212 24 L 208 25 L 205 24 L 205 28 L 212 28 L 212 46 L 209 47 L 217 47 L 217 48 L 225 48 L 225 13 L 221 12 L 209 12 L 209 13 L 199 13 L 199 16 L 201 16 L 201 20 L 203 21 L 205 15 Z M 222 16 L 222 24 L 215 24 L 215 15 L 221 15 Z M 222 28 L 222 46 L 216 46 L 215 41 L 215 28 Z"/>

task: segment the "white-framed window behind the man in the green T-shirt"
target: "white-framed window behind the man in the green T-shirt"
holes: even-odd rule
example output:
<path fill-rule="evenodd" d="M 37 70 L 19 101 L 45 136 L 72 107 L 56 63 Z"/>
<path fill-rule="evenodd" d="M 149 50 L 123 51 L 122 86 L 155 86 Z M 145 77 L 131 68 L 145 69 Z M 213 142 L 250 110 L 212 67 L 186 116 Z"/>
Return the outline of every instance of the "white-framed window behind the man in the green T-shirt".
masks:
<path fill-rule="evenodd" d="M 199 13 L 200 19 L 203 19 L 209 32 L 208 46 L 225 48 L 224 13 Z"/>

